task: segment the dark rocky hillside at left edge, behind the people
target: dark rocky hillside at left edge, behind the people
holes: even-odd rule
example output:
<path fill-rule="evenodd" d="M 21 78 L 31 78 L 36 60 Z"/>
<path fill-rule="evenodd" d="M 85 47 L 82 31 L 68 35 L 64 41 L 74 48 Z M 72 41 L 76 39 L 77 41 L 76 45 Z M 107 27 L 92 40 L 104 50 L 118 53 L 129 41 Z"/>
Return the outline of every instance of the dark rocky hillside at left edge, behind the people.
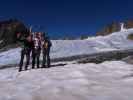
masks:
<path fill-rule="evenodd" d="M 22 35 L 29 34 L 28 28 L 26 26 L 16 20 L 10 19 L 7 21 L 0 22 L 0 49 L 16 43 L 16 33 L 21 32 Z"/>

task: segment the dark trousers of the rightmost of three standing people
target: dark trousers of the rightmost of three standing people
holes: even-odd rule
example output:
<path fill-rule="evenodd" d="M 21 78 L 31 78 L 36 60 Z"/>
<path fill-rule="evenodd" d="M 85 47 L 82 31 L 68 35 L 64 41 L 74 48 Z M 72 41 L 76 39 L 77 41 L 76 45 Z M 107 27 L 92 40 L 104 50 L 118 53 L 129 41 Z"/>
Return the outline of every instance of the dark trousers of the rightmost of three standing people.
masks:
<path fill-rule="evenodd" d="M 43 62 L 42 62 L 42 67 L 46 67 L 45 63 L 47 62 L 47 67 L 50 67 L 50 48 L 48 49 L 43 49 Z"/>

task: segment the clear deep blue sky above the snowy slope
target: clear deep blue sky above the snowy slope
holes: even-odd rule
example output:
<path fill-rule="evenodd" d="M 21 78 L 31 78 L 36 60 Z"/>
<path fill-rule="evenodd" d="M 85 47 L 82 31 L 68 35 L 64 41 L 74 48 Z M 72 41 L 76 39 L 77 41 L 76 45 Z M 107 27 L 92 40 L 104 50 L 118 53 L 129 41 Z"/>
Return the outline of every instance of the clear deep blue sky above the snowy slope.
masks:
<path fill-rule="evenodd" d="M 17 18 L 52 37 L 95 34 L 112 21 L 133 19 L 132 0 L 1 0 L 0 20 Z"/>

